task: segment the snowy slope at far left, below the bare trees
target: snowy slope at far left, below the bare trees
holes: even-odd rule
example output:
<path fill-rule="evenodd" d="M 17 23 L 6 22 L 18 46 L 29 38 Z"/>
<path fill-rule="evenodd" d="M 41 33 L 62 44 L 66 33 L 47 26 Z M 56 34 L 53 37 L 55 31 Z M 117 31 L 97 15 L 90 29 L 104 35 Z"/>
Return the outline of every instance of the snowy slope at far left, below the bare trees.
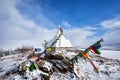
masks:
<path fill-rule="evenodd" d="M 9 55 L 0 58 L 0 76 L 4 75 L 7 71 L 16 68 L 19 64 L 27 60 L 22 56 L 22 53 Z"/>

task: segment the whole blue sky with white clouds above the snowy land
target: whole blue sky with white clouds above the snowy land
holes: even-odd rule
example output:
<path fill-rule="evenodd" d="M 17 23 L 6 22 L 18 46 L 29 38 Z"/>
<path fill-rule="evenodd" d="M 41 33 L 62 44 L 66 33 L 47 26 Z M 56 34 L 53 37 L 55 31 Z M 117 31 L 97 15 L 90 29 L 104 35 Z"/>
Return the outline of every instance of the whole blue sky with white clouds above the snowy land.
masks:
<path fill-rule="evenodd" d="M 0 0 L 0 48 L 41 47 L 58 25 L 73 46 L 120 44 L 120 0 Z"/>

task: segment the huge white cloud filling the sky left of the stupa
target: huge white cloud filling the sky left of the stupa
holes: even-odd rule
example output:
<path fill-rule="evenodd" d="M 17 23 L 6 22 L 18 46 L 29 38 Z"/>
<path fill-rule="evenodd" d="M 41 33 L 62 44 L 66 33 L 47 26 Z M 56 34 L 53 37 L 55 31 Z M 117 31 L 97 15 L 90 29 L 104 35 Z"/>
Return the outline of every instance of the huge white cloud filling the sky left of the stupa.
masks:
<path fill-rule="evenodd" d="M 0 48 L 22 44 L 41 46 L 44 39 L 50 40 L 56 30 L 48 30 L 24 18 L 16 9 L 17 3 L 17 0 L 0 1 Z"/>

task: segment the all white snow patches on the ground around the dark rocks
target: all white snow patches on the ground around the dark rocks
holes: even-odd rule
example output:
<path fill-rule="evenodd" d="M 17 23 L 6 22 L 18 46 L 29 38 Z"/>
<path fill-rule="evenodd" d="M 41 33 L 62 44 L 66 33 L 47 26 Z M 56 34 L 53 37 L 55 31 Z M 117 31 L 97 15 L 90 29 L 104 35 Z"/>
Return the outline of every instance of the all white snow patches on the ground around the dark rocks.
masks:
<path fill-rule="evenodd" d="M 63 53 L 62 55 L 64 57 L 66 56 L 69 58 L 72 58 L 73 56 L 77 55 L 74 52 L 68 52 L 64 50 L 58 51 L 58 53 L 61 52 Z M 94 71 L 93 66 L 88 60 L 79 57 L 79 63 L 74 64 L 74 73 L 76 75 L 73 72 L 68 72 L 66 74 L 62 74 L 60 72 L 53 72 L 53 74 L 50 76 L 50 80 L 120 80 L 120 62 L 118 60 L 113 60 L 120 58 L 120 51 L 101 50 L 101 52 L 102 54 L 100 56 L 112 59 L 102 58 L 99 56 L 95 57 L 95 55 L 94 57 L 90 57 L 94 64 L 99 68 L 99 74 Z M 16 68 L 19 64 L 26 60 L 27 57 L 23 57 L 22 54 L 9 55 L 0 58 L 0 76 L 5 74 L 7 71 Z M 57 62 L 57 60 L 54 61 Z M 61 63 L 60 60 L 58 60 L 58 62 Z M 52 66 L 52 64 L 46 62 L 45 67 L 50 68 L 50 66 Z M 65 65 L 63 64 L 62 66 L 59 66 L 63 67 Z M 35 70 L 33 71 L 33 73 L 34 72 L 38 72 L 39 74 L 41 73 L 41 70 Z M 12 76 L 12 74 L 10 76 Z M 15 80 L 24 80 L 23 77 L 19 74 L 14 74 L 12 77 L 9 77 L 6 80 L 13 80 L 13 77 Z M 38 77 L 40 77 L 40 75 Z"/>

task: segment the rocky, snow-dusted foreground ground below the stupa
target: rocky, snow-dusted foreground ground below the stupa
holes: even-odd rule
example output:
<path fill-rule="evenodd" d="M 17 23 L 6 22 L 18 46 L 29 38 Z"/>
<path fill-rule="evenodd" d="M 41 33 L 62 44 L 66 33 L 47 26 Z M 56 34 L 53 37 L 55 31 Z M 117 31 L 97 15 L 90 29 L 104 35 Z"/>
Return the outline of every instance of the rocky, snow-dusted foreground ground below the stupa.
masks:
<path fill-rule="evenodd" d="M 99 73 L 87 59 L 79 57 L 78 63 L 71 63 L 71 59 L 78 53 L 73 50 L 61 50 L 46 54 L 36 62 L 38 68 L 32 72 L 29 69 L 19 70 L 19 66 L 31 64 L 34 59 L 27 59 L 18 67 L 1 76 L 1 80 L 120 80 L 120 61 L 90 55 L 90 59 L 99 68 Z"/>

